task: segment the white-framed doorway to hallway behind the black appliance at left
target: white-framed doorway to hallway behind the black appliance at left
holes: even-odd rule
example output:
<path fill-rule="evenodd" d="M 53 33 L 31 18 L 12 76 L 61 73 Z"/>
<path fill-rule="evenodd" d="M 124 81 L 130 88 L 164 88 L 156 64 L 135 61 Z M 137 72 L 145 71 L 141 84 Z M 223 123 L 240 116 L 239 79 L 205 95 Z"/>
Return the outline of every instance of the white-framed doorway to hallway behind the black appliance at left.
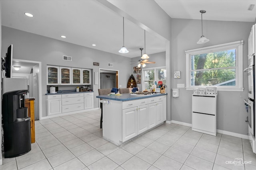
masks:
<path fill-rule="evenodd" d="M 41 62 L 13 59 L 13 66 L 19 66 L 19 70 L 14 70 L 12 67 L 13 78 L 28 78 L 28 94 L 29 98 L 34 100 L 35 120 L 42 119 L 42 80 L 41 80 Z"/>

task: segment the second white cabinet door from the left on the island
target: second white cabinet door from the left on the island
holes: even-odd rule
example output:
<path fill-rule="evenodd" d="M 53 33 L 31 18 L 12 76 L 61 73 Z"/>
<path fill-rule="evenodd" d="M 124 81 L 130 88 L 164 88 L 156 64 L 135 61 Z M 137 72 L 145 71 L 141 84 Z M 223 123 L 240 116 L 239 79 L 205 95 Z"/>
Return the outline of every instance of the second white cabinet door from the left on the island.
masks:
<path fill-rule="evenodd" d="M 148 130 L 148 105 L 138 106 L 138 134 Z"/>

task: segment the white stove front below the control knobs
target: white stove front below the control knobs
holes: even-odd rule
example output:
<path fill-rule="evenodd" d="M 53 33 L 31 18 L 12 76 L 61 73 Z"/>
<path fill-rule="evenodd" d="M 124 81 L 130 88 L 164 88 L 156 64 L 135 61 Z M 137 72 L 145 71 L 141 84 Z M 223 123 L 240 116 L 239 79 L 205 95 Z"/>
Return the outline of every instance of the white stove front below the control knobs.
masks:
<path fill-rule="evenodd" d="M 217 96 L 192 96 L 192 131 L 216 136 Z"/>

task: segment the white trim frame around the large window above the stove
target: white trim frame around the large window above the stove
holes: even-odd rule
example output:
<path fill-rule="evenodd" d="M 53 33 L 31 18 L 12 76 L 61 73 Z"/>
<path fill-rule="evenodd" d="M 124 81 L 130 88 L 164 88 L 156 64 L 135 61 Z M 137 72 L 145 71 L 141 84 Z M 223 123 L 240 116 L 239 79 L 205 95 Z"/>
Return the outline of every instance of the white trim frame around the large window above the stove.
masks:
<path fill-rule="evenodd" d="M 224 51 L 226 49 L 234 48 L 236 49 L 236 86 L 217 86 L 218 91 L 240 91 L 244 90 L 243 88 L 243 44 L 244 41 L 235 41 L 232 43 L 225 43 L 220 45 L 213 45 L 210 47 L 203 47 L 199 49 L 192 49 L 185 51 L 186 53 L 186 90 L 193 90 L 198 87 L 207 87 L 207 86 L 191 86 L 190 85 L 190 71 L 191 71 L 191 55 L 198 55 L 215 52 L 215 51 Z"/>

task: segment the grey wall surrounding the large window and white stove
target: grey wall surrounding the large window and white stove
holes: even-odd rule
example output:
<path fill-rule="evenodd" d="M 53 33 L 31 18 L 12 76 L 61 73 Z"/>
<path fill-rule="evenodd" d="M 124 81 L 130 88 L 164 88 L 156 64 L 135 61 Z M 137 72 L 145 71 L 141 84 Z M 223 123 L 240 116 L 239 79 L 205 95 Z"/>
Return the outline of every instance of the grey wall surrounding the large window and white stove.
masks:
<path fill-rule="evenodd" d="M 247 67 L 248 36 L 254 23 L 235 21 L 204 21 L 204 35 L 208 43 L 198 45 L 201 20 L 172 19 L 172 88 L 186 84 L 185 51 L 244 40 L 243 68 Z M 181 71 L 181 78 L 174 79 L 173 72 Z M 217 129 L 247 135 L 247 112 L 243 100 L 248 98 L 247 73 L 243 74 L 243 92 L 218 92 Z M 192 90 L 180 88 L 180 97 L 172 98 L 172 120 L 192 123 Z"/>

